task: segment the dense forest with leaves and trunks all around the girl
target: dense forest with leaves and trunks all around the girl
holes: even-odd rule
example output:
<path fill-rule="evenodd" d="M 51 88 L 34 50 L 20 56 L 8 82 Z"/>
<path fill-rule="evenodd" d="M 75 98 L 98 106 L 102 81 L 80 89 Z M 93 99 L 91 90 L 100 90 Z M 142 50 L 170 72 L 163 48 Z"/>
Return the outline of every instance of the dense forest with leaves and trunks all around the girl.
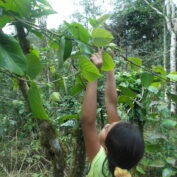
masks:
<path fill-rule="evenodd" d="M 104 75 L 114 66 L 118 113 L 140 127 L 146 144 L 132 176 L 176 176 L 174 2 L 112 0 L 110 15 L 104 0 L 78 0 L 84 12 L 49 30 L 47 17 L 56 12 L 47 0 L 0 0 L 0 177 L 85 176 L 79 122 L 85 84 L 99 78 L 101 129 Z M 98 48 L 101 71 L 89 60 Z"/>

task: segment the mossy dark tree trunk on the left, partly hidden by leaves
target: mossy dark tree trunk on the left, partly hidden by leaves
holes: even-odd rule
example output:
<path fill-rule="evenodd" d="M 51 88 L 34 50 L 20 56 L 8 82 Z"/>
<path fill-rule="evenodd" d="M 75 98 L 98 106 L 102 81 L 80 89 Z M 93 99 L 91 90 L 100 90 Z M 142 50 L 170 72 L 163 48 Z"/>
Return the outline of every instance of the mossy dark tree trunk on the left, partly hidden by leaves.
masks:
<path fill-rule="evenodd" d="M 30 44 L 26 39 L 25 30 L 21 23 L 16 23 L 17 36 L 24 54 L 29 53 Z M 28 83 L 19 80 L 20 90 L 28 102 Z M 45 147 L 53 163 L 54 177 L 64 177 L 65 160 L 62 147 L 57 139 L 57 131 L 50 121 L 38 120 L 40 127 L 41 144 Z"/>

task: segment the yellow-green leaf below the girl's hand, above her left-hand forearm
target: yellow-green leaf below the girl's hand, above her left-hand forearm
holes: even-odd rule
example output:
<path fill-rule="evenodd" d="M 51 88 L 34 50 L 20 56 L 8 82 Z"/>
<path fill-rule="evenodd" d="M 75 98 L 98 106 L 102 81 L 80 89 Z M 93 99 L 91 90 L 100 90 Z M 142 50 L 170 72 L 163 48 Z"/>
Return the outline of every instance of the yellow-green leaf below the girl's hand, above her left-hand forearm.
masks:
<path fill-rule="evenodd" d="M 80 56 L 79 57 L 79 64 L 81 68 L 81 74 L 83 77 L 88 81 L 95 81 L 101 74 L 97 67 L 89 60 L 87 56 Z"/>

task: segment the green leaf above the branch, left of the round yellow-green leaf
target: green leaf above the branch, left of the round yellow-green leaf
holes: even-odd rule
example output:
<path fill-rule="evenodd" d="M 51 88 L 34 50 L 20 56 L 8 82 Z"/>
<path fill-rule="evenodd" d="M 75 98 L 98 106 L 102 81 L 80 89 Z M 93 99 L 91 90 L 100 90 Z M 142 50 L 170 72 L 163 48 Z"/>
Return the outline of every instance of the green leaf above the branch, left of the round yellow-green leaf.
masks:
<path fill-rule="evenodd" d="M 82 41 L 82 42 L 85 42 L 87 43 L 88 40 L 89 40 L 89 33 L 88 33 L 88 30 L 86 28 L 84 28 L 83 25 L 79 24 L 79 23 L 76 23 L 76 22 L 73 22 L 71 24 L 67 24 L 68 25 L 68 30 L 72 33 L 72 35 Z"/>

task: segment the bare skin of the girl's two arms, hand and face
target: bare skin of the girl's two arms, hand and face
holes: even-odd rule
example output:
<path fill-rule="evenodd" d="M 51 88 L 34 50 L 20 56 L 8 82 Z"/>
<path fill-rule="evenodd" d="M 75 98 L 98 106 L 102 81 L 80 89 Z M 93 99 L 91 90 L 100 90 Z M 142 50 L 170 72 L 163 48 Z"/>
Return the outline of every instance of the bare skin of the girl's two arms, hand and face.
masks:
<path fill-rule="evenodd" d="M 91 60 L 100 68 L 102 65 L 101 52 L 93 54 Z M 101 146 L 105 147 L 107 134 L 120 121 L 117 113 L 117 93 L 113 70 L 107 72 L 105 89 L 105 104 L 110 124 L 106 124 L 99 134 L 96 129 L 96 104 L 97 81 L 88 82 L 82 105 L 81 124 L 89 162 L 93 160 Z"/>

